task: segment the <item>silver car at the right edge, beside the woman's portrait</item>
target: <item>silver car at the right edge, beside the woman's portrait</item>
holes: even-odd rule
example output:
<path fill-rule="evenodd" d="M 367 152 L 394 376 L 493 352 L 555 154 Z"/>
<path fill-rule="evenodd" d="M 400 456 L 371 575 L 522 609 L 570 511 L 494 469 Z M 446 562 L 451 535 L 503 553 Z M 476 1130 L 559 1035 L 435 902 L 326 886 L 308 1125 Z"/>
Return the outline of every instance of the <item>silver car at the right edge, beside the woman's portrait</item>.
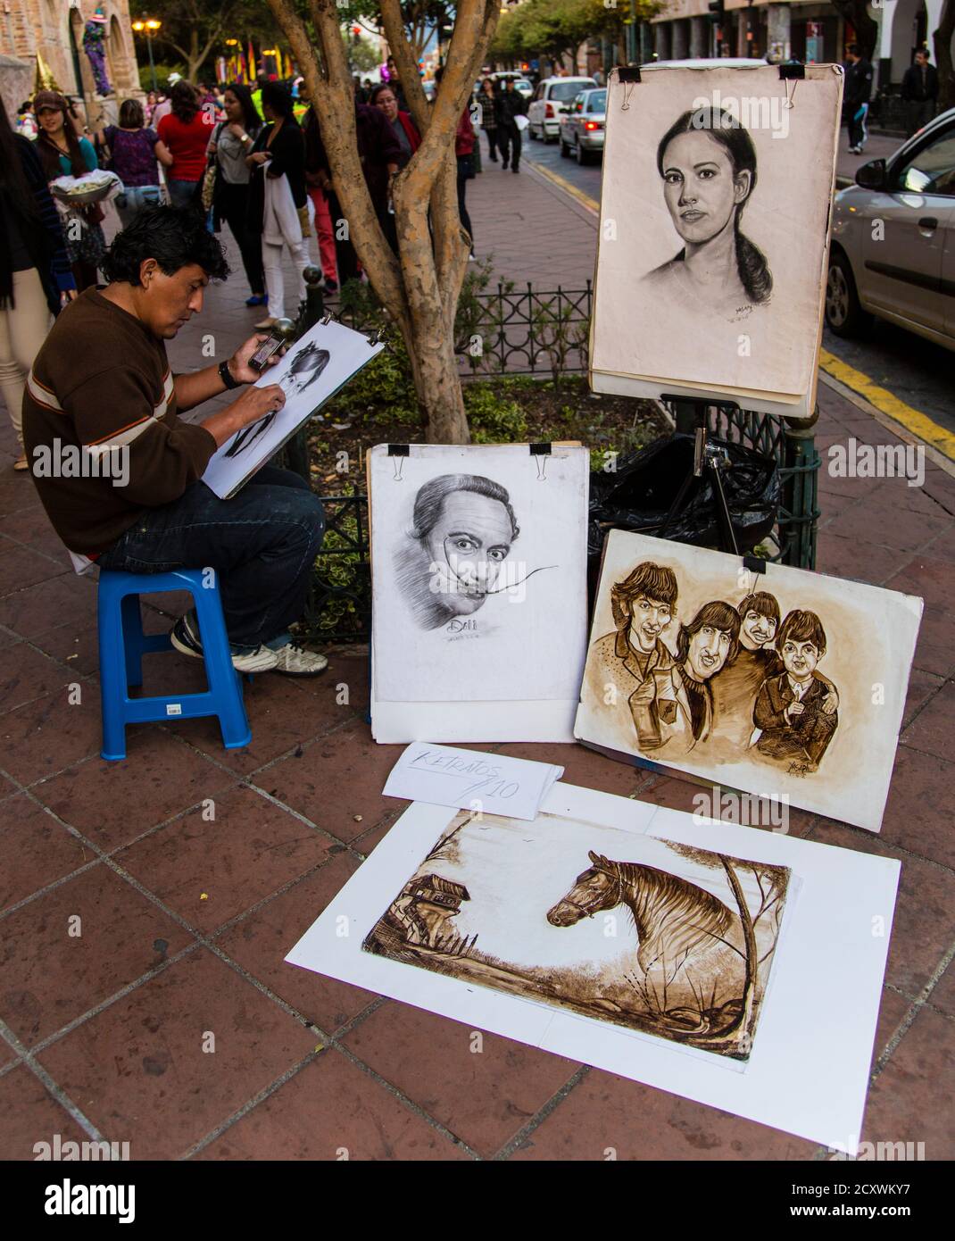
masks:
<path fill-rule="evenodd" d="M 852 336 L 877 315 L 955 350 L 955 108 L 836 195 L 826 323 Z"/>

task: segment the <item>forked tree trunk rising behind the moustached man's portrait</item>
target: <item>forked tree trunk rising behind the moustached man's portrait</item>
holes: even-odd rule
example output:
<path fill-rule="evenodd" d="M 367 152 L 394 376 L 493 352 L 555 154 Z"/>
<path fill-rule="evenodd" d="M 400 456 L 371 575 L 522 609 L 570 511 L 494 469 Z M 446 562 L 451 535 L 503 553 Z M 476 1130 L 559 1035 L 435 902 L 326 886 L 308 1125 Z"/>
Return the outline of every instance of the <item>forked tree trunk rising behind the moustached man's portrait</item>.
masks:
<path fill-rule="evenodd" d="M 349 220 L 350 238 L 386 313 L 402 333 L 414 387 L 433 443 L 468 443 L 454 316 L 470 238 L 458 212 L 454 134 L 474 76 L 494 36 L 500 0 L 460 0 L 440 89 L 429 104 L 414 47 L 404 35 L 399 0 L 382 0 L 386 36 L 422 145 L 394 182 L 394 222 L 401 258 L 378 223 L 358 160 L 351 73 L 335 0 L 310 0 L 321 63 L 294 0 L 269 0 L 311 92 L 332 181 Z M 430 206 L 432 233 L 428 228 Z"/>

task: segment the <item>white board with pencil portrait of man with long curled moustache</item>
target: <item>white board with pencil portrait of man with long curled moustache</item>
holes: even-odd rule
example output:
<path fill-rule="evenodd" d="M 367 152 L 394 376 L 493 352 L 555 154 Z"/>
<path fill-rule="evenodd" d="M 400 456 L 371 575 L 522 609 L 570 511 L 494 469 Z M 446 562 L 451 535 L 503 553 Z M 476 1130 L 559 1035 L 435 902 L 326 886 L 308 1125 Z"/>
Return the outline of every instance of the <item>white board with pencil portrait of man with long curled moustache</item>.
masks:
<path fill-rule="evenodd" d="M 404 447 L 368 454 L 373 736 L 572 740 L 587 449 Z"/>

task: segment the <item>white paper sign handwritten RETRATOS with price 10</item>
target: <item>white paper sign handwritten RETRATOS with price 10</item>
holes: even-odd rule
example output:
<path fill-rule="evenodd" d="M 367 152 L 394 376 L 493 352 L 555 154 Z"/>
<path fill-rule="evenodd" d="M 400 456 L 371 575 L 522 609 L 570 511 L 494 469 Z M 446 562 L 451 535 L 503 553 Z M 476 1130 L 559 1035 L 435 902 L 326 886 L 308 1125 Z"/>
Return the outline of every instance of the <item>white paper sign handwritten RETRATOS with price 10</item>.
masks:
<path fill-rule="evenodd" d="M 563 767 L 553 763 L 415 741 L 392 768 L 384 794 L 455 805 L 461 810 L 506 814 L 513 819 L 536 819 L 541 802 L 563 773 Z"/>

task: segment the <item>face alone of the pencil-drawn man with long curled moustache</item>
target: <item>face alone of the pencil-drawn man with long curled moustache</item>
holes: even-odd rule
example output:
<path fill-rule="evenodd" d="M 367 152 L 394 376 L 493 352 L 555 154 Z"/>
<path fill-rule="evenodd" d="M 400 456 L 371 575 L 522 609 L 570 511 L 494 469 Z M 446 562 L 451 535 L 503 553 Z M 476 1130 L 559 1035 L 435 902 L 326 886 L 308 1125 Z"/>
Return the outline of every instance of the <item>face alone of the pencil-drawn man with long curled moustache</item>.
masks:
<path fill-rule="evenodd" d="M 513 540 L 500 500 L 476 491 L 453 491 L 424 545 L 433 565 L 450 572 L 453 589 L 443 602 L 459 616 L 476 612 L 496 587 Z"/>

